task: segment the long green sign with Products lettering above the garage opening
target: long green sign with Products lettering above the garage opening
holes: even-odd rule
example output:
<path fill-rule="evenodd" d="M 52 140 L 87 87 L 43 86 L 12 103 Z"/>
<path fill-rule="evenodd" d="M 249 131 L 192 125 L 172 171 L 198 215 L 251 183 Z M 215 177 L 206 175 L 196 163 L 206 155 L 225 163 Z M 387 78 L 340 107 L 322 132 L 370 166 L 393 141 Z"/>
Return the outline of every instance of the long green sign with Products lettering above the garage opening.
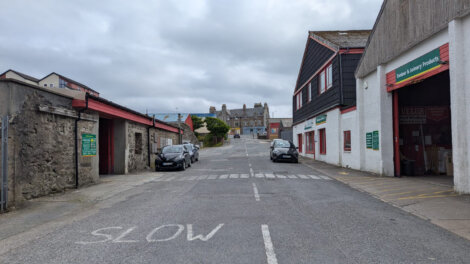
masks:
<path fill-rule="evenodd" d="M 441 53 L 439 48 L 408 62 L 395 70 L 396 83 L 407 81 L 413 77 L 425 74 L 441 66 Z"/>

